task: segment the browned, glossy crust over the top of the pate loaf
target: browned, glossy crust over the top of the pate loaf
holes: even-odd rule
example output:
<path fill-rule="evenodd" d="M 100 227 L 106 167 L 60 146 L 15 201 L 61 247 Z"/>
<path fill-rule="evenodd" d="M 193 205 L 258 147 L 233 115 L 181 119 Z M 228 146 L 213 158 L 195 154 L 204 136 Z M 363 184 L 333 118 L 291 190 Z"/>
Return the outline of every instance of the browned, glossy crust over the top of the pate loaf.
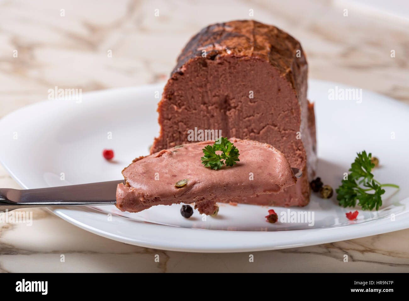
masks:
<path fill-rule="evenodd" d="M 186 44 L 171 77 L 183 73 L 184 64 L 202 57 L 218 60 L 224 56 L 258 57 L 279 70 L 299 95 L 308 68 L 301 44 L 281 29 L 254 20 L 216 23 L 203 28 Z M 297 52 L 299 50 L 299 52 Z M 299 54 L 297 56 L 297 54 Z M 300 76 L 303 75 L 304 76 Z"/>

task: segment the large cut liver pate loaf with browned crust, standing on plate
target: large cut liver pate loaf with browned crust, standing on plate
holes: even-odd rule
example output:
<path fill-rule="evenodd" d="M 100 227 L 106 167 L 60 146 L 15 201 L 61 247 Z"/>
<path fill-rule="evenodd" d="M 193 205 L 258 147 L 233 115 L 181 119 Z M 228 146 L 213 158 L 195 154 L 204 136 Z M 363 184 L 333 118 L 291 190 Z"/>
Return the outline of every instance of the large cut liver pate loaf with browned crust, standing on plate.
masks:
<path fill-rule="evenodd" d="M 281 193 L 231 200 L 307 205 L 316 165 L 307 72 L 300 43 L 274 26 L 243 20 L 205 27 L 182 50 L 165 86 L 151 153 L 189 143 L 188 131 L 195 128 L 270 144 L 303 176 Z"/>

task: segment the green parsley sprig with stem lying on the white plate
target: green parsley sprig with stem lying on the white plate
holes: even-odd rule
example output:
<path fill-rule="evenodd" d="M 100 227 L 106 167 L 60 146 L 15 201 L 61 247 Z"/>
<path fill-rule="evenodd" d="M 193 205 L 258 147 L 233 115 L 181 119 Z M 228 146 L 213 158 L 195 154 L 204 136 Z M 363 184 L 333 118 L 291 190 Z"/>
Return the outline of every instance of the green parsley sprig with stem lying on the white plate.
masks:
<path fill-rule="evenodd" d="M 395 184 L 381 184 L 373 179 L 371 170 L 375 167 L 375 164 L 371 162 L 372 154 L 366 154 L 365 151 L 357 153 L 355 162 L 351 164 L 346 180 L 342 180 L 341 186 L 335 191 L 337 192 L 337 200 L 339 206 L 355 207 L 356 202 L 362 206 L 362 210 L 379 209 L 382 206 L 381 195 L 385 193 L 382 187 L 395 187 L 399 188 Z M 366 187 L 366 189 L 365 189 Z M 368 193 L 367 191 L 373 191 Z"/>

